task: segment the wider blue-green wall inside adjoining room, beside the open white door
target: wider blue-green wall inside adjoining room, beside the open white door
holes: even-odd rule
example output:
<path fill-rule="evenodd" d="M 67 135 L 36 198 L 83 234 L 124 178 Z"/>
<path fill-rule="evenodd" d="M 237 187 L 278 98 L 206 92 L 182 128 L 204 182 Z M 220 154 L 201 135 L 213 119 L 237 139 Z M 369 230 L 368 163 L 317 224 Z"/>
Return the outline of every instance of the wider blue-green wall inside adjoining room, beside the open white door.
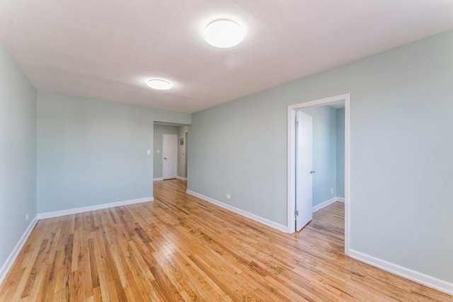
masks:
<path fill-rule="evenodd" d="M 329 106 L 301 111 L 310 115 L 313 123 L 312 204 L 315 207 L 337 193 L 337 111 Z"/>

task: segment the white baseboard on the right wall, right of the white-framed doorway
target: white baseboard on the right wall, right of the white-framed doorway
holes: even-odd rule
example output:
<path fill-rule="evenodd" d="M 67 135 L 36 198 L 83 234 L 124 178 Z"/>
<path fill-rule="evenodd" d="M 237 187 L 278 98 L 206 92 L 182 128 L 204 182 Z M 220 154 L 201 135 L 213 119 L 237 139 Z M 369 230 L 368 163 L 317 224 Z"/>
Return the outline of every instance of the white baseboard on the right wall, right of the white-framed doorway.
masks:
<path fill-rule="evenodd" d="M 427 274 L 416 272 L 406 267 L 401 267 L 400 265 L 396 265 L 377 257 L 364 254 L 363 252 L 357 252 L 357 250 L 349 250 L 349 256 L 354 258 L 355 260 L 359 260 L 372 265 L 373 267 L 384 269 L 384 271 L 391 272 L 392 274 L 396 274 L 400 277 L 415 281 L 417 283 L 431 287 L 432 289 L 437 289 L 438 291 L 443 291 L 444 293 L 453 295 L 453 283 L 428 276 Z"/>

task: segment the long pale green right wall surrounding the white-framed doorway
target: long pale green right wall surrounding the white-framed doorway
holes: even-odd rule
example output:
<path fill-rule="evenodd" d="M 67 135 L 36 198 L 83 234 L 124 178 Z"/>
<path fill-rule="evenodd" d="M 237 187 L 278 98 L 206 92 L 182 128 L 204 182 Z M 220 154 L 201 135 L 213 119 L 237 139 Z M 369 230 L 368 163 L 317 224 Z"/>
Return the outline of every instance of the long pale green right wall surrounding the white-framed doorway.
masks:
<path fill-rule="evenodd" d="M 196 112 L 188 190 L 285 225 L 287 106 L 344 93 L 350 247 L 453 282 L 453 31 Z"/>

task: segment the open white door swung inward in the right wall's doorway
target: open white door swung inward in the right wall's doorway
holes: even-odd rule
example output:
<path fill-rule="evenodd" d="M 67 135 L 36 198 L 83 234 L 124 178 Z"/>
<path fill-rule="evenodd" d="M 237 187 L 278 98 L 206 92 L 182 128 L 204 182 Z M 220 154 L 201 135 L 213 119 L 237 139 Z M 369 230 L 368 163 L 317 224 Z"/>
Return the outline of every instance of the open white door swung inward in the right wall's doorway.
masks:
<path fill-rule="evenodd" d="M 296 231 L 309 223 L 313 194 L 313 119 L 297 111 L 296 138 Z"/>

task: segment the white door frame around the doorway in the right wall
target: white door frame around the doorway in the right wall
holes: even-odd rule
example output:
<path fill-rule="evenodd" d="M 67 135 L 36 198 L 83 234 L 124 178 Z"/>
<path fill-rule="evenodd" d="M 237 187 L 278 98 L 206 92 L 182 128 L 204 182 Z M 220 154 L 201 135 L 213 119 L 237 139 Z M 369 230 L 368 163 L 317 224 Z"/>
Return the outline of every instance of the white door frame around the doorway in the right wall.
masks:
<path fill-rule="evenodd" d="M 349 255 L 350 245 L 350 94 L 313 100 L 288 106 L 288 137 L 287 137 L 287 226 L 288 233 L 295 232 L 294 209 L 296 203 L 296 111 L 302 108 L 319 107 L 338 101 L 345 102 L 345 254 Z"/>

